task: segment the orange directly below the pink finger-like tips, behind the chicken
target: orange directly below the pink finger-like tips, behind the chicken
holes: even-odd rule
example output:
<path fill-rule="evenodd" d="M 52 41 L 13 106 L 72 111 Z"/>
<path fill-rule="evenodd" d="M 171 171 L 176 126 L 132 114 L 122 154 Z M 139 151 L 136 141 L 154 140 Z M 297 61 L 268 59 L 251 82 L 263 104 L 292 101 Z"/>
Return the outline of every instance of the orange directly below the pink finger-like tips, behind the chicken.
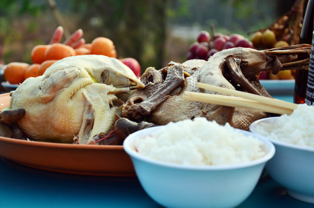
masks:
<path fill-rule="evenodd" d="M 72 55 L 76 55 L 76 51 L 71 46 L 60 43 L 51 44 L 44 53 L 44 60 L 60 60 Z"/>

